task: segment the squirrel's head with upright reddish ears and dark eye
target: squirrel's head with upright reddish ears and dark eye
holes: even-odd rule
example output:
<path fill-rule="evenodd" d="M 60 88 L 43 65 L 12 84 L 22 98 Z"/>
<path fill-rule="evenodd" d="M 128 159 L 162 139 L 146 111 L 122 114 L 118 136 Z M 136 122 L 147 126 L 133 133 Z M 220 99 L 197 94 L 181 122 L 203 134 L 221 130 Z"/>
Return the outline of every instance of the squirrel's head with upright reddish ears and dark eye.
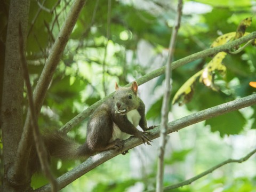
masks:
<path fill-rule="evenodd" d="M 130 87 L 119 87 L 116 83 L 116 92 L 113 96 L 115 103 L 115 113 L 125 115 L 129 111 L 138 107 L 137 93 L 138 84 L 132 82 Z"/>

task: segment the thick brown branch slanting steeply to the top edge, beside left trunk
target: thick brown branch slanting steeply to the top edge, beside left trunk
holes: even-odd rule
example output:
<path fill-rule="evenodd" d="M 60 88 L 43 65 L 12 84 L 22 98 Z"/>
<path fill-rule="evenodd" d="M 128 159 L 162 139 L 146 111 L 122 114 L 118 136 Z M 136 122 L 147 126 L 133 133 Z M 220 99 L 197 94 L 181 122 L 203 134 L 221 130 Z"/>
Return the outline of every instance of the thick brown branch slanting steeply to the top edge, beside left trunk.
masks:
<path fill-rule="evenodd" d="M 67 18 L 63 23 L 63 26 L 60 30 L 60 33 L 52 46 L 52 50 L 50 52 L 49 57 L 46 60 L 44 69 L 42 71 L 41 76 L 39 77 L 38 83 L 36 85 L 34 91 L 34 103 L 35 103 L 35 116 L 38 117 L 39 111 L 43 105 L 43 101 L 46 95 L 46 91 L 49 87 L 51 79 L 53 77 L 54 71 L 60 61 L 61 55 L 65 49 L 65 46 L 68 42 L 68 37 L 70 36 L 75 23 L 77 21 L 78 15 L 81 12 L 83 6 L 85 4 L 85 0 L 76 0 L 73 5 L 70 7 L 70 11 L 68 12 Z M 19 169 L 26 169 L 26 167 L 22 166 L 22 162 L 27 162 L 29 158 L 29 153 L 25 153 L 28 150 L 29 146 L 31 146 L 31 113 L 28 110 L 27 118 L 25 125 L 23 127 L 23 133 L 21 140 L 18 146 L 18 162 L 17 167 Z"/>

